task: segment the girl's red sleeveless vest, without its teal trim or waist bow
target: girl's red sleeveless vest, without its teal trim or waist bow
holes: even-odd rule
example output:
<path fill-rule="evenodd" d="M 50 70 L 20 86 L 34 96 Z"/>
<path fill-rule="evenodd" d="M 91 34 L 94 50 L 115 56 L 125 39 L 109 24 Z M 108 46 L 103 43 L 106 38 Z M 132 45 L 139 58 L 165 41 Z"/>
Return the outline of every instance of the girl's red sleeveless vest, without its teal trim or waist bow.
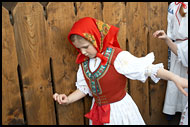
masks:
<path fill-rule="evenodd" d="M 106 68 L 107 71 L 102 73 L 103 76 L 100 76 L 101 78 L 97 78 L 99 87 L 101 87 L 100 89 L 102 92 L 100 92 L 101 94 L 99 94 L 98 96 L 95 94 L 93 94 L 93 96 L 95 98 L 96 103 L 99 105 L 117 102 L 126 95 L 125 87 L 126 87 L 127 78 L 124 75 L 119 74 L 114 67 L 114 61 L 117 55 L 122 50 L 115 47 L 113 47 L 113 50 L 114 50 L 112 51 L 113 54 L 110 57 L 111 59 L 110 64 Z M 90 86 L 91 85 L 90 79 L 85 74 L 85 69 L 83 67 L 83 64 L 81 67 L 86 83 L 90 88 L 90 90 L 92 91 Z M 92 74 L 96 73 L 99 70 L 99 68 L 100 66 Z"/>

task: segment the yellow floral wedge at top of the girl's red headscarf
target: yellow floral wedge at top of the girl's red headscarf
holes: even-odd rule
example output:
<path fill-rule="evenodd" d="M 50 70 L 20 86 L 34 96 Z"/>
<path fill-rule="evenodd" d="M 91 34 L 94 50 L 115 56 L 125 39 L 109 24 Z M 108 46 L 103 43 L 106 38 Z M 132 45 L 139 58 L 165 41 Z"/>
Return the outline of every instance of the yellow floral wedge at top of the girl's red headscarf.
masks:
<path fill-rule="evenodd" d="M 105 24 L 104 22 L 97 20 L 97 19 L 96 19 L 96 25 L 98 27 L 98 30 L 100 31 L 100 34 L 101 34 L 101 42 L 100 42 L 100 52 L 101 52 L 102 48 L 103 48 L 104 37 L 107 35 L 111 26 L 108 24 Z"/>

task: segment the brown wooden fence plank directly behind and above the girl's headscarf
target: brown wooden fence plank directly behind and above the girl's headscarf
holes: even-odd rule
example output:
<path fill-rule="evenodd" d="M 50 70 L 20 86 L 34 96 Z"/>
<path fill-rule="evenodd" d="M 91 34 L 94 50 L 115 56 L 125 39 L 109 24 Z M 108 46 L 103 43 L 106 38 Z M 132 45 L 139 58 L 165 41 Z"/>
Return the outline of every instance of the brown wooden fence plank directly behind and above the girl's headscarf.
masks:
<path fill-rule="evenodd" d="M 92 17 L 102 20 L 102 9 L 100 2 L 76 2 L 77 7 L 77 20 L 83 17 Z M 86 96 L 84 98 L 84 114 L 90 111 L 92 98 Z M 89 125 L 89 119 L 85 117 L 85 124 Z"/>

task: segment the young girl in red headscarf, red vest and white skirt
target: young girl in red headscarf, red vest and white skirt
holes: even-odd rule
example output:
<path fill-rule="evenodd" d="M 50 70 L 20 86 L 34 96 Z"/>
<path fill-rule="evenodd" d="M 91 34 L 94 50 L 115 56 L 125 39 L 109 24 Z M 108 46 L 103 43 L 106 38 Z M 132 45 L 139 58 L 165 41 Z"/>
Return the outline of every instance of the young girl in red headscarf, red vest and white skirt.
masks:
<path fill-rule="evenodd" d="M 93 96 L 91 110 L 85 115 L 93 125 L 144 125 L 136 104 L 125 91 L 127 78 L 142 82 L 148 76 L 154 82 L 160 78 L 171 80 L 184 94 L 187 80 L 163 69 L 163 64 L 153 65 L 153 53 L 137 58 L 122 51 L 117 33 L 115 26 L 90 17 L 73 25 L 68 39 L 79 52 L 77 90 L 68 97 L 55 93 L 53 98 L 59 104 L 70 104 L 87 94 Z"/>

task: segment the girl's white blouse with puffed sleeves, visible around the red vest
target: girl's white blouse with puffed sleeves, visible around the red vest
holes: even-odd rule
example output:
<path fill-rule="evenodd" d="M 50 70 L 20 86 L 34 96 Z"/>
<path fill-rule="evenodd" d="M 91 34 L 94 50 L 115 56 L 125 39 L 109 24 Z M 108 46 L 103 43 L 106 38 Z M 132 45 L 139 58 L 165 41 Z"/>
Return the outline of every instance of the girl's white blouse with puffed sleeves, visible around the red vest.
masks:
<path fill-rule="evenodd" d="M 94 72 L 98 68 L 100 62 L 101 59 L 98 57 L 90 59 L 89 67 L 91 72 Z M 160 80 L 160 78 L 156 77 L 157 71 L 159 68 L 163 68 L 163 64 L 160 63 L 153 65 L 152 64 L 153 62 L 154 62 L 153 52 L 149 53 L 145 57 L 137 58 L 128 51 L 122 51 L 117 55 L 114 61 L 114 67 L 118 73 L 125 75 L 127 78 L 131 80 L 140 80 L 141 82 L 144 83 L 148 78 L 148 76 L 150 76 L 151 79 L 155 83 L 157 83 Z M 79 69 L 77 72 L 76 87 L 83 93 L 92 96 L 92 93 L 85 81 L 81 65 L 79 65 Z"/>

